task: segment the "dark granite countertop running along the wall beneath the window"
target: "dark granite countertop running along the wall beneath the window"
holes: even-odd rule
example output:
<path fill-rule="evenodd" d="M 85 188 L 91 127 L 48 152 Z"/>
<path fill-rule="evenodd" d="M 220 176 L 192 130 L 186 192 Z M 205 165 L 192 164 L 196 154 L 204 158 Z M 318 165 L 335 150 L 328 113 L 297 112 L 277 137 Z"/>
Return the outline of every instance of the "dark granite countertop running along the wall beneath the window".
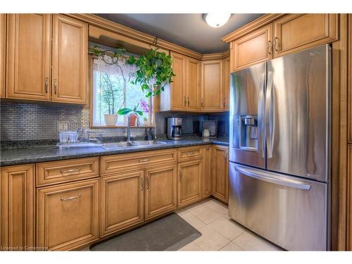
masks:
<path fill-rule="evenodd" d="M 201 137 L 189 137 L 183 140 L 173 141 L 158 139 L 166 144 L 156 146 L 127 147 L 120 149 L 103 149 L 101 146 L 70 148 L 60 151 L 57 146 L 36 146 L 21 149 L 4 149 L 0 153 L 0 166 L 20 165 L 26 163 L 38 163 L 43 161 L 60 161 L 69 158 L 84 158 L 92 156 L 105 156 L 119 153 L 132 153 L 139 151 L 151 151 L 156 149 L 170 149 L 182 146 L 197 146 L 206 144 L 229 145 L 228 138 L 202 139 Z"/>

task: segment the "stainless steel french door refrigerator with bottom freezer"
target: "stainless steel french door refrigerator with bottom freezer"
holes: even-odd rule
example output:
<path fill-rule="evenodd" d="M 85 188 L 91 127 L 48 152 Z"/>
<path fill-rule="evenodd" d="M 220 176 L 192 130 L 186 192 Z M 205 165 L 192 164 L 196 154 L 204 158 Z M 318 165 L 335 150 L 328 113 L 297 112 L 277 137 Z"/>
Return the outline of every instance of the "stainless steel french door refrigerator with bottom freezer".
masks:
<path fill-rule="evenodd" d="M 287 250 L 329 249 L 330 54 L 231 74 L 229 214 Z"/>

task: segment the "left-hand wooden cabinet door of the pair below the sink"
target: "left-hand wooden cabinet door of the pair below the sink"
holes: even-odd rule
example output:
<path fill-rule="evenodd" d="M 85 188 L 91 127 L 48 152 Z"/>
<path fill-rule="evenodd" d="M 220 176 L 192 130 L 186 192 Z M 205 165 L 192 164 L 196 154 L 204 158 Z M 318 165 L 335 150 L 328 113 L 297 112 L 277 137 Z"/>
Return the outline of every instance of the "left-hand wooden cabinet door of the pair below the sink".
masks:
<path fill-rule="evenodd" d="M 144 170 L 101 178 L 101 236 L 143 221 Z"/>

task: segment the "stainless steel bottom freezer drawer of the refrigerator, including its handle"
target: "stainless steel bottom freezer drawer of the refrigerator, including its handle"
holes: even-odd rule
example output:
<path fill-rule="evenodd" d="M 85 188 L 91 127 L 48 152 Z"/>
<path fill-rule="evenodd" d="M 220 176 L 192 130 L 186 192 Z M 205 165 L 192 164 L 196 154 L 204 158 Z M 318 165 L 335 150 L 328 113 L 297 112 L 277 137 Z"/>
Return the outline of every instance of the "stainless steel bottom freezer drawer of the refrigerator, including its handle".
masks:
<path fill-rule="evenodd" d="M 327 184 L 230 163 L 230 217 L 287 250 L 327 250 Z"/>

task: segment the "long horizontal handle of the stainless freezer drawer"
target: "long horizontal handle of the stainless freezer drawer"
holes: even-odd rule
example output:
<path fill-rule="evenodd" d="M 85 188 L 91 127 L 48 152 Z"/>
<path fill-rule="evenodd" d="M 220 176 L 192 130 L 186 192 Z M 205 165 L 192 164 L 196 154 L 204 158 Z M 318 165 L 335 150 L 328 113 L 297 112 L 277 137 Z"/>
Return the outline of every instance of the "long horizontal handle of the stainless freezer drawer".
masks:
<path fill-rule="evenodd" d="M 275 177 L 275 175 L 273 175 L 272 173 L 267 172 L 267 171 L 256 170 L 253 168 L 246 168 L 241 165 L 234 165 L 234 169 L 237 172 L 239 172 L 243 175 L 252 177 L 256 180 L 262 180 L 264 182 L 270 182 L 272 184 L 278 184 L 278 185 L 292 187 L 292 188 L 296 188 L 296 189 L 302 189 L 302 190 L 309 190 L 310 189 L 309 184 L 304 184 L 302 182 L 298 182 L 295 180 L 280 179 L 280 178 Z"/>

